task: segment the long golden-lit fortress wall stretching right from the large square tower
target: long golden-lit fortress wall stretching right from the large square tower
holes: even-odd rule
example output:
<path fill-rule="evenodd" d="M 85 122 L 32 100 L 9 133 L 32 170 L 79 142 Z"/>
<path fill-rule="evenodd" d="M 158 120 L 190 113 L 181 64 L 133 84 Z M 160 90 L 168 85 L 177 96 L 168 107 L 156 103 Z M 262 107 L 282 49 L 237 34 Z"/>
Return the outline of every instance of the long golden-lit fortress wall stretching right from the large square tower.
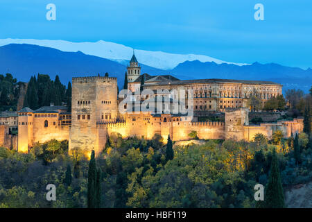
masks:
<path fill-rule="evenodd" d="M 135 121 L 132 120 L 135 117 Z M 293 121 L 278 121 L 277 123 L 261 123 L 260 125 L 249 126 L 248 108 L 230 108 L 225 110 L 225 123 L 223 122 L 189 122 L 173 121 L 175 117 L 153 118 L 147 114 L 128 114 L 124 123 L 103 123 L 98 124 L 98 130 L 103 130 L 103 141 L 105 135 L 120 133 L 123 138 L 144 137 L 151 139 L 155 134 L 163 137 L 164 142 L 168 135 L 173 141 L 183 141 L 191 139 L 189 133 L 196 131 L 199 139 L 234 139 L 239 141 L 244 139 L 251 141 L 254 135 L 262 133 L 268 139 L 272 139 L 272 134 L 276 130 L 281 130 L 284 137 L 291 137 L 303 130 L 303 119 L 297 118 Z M 134 118 L 133 118 L 134 119 Z M 183 118 L 182 118 L 183 119 Z M 103 142 L 105 144 L 105 142 Z"/>

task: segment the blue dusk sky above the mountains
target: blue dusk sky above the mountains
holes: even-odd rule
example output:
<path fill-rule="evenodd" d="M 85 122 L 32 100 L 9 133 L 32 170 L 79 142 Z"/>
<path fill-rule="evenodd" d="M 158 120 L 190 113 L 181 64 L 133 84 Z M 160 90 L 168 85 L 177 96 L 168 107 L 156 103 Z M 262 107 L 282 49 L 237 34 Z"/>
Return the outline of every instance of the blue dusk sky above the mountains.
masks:
<path fill-rule="evenodd" d="M 46 19 L 46 5 L 56 20 Z M 254 6 L 264 6 L 264 21 Z M 1 0 L 0 38 L 116 42 L 229 62 L 312 67 L 311 0 Z"/>

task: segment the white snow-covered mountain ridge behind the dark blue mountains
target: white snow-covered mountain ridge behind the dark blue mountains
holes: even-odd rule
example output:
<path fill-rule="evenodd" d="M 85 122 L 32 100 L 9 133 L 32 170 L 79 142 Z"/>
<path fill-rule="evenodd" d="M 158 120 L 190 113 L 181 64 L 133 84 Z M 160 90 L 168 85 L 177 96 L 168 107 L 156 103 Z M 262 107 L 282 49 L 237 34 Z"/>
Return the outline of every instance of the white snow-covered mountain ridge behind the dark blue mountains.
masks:
<path fill-rule="evenodd" d="M 46 46 L 61 51 L 76 52 L 81 51 L 87 55 L 107 58 L 125 64 L 133 53 L 133 49 L 122 44 L 114 42 L 68 42 L 64 40 L 33 40 L 33 39 L 0 39 L 0 46 L 7 44 L 35 44 L 38 46 Z M 165 53 L 162 51 L 146 51 L 135 49 L 135 56 L 140 63 L 155 67 L 157 69 L 173 69 L 177 65 L 185 61 L 199 60 L 200 62 L 216 62 L 217 64 L 227 63 L 234 65 L 246 65 L 242 63 L 225 62 L 216 58 L 202 55 L 182 55 Z"/>

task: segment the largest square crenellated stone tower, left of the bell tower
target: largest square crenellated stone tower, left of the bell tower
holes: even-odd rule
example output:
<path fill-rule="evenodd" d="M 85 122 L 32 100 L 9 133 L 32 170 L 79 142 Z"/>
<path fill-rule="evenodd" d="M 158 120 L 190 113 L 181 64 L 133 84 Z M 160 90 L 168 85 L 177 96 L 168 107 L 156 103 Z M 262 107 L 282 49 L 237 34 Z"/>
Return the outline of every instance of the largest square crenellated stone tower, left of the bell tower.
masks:
<path fill-rule="evenodd" d="M 72 78 L 72 83 L 69 153 L 78 148 L 88 156 L 93 149 L 98 154 L 105 138 L 96 123 L 117 117 L 117 78 L 81 77 Z"/>

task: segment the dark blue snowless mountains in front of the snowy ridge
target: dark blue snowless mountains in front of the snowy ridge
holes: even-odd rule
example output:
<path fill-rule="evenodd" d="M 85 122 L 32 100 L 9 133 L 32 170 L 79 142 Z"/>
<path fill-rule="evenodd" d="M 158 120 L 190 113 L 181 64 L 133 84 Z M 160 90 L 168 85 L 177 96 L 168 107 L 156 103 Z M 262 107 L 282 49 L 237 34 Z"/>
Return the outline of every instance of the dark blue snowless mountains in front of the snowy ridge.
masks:
<path fill-rule="evenodd" d="M 1 42 L 1 41 L 0 41 Z M 132 56 L 132 53 L 128 59 Z M 137 51 L 136 51 L 137 56 Z M 137 56 L 139 60 L 139 56 Z M 0 74 L 13 74 L 17 80 L 28 81 L 36 74 L 49 74 L 51 78 L 60 76 L 67 84 L 72 77 L 103 76 L 106 72 L 118 78 L 119 88 L 123 86 L 128 60 L 107 59 L 87 55 L 82 51 L 60 51 L 46 46 L 33 44 L 6 44 L 0 46 Z M 309 92 L 312 85 L 312 69 L 286 67 L 275 63 L 236 65 L 200 60 L 184 61 L 173 69 L 159 69 L 141 63 L 141 73 L 151 75 L 171 74 L 180 79 L 226 78 L 241 80 L 270 80 L 288 88 L 300 88 Z M 151 64 L 151 62 L 149 62 Z"/>

